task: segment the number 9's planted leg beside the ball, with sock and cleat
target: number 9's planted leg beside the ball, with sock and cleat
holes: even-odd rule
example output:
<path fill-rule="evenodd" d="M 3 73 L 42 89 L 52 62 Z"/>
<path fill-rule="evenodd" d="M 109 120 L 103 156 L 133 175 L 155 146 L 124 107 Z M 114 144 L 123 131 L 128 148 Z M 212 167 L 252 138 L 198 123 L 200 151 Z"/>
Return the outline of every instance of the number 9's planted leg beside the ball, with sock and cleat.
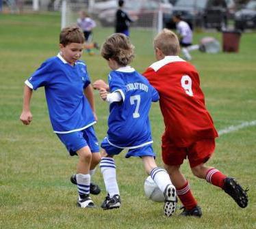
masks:
<path fill-rule="evenodd" d="M 168 174 L 170 174 L 170 179 L 176 187 L 177 195 L 183 204 L 184 211 L 182 215 L 201 217 L 201 209 L 197 206 L 197 202 L 190 190 L 190 185 L 183 174 L 179 171 L 179 167 L 180 166 L 165 165 Z"/>

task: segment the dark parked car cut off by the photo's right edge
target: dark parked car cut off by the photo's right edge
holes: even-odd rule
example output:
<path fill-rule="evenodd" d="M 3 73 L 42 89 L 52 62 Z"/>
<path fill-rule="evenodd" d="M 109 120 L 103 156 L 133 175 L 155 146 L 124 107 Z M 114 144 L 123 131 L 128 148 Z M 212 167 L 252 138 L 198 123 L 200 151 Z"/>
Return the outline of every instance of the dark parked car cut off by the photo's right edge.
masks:
<path fill-rule="evenodd" d="M 256 29 L 256 1 L 249 1 L 242 10 L 235 12 L 235 29 Z"/>

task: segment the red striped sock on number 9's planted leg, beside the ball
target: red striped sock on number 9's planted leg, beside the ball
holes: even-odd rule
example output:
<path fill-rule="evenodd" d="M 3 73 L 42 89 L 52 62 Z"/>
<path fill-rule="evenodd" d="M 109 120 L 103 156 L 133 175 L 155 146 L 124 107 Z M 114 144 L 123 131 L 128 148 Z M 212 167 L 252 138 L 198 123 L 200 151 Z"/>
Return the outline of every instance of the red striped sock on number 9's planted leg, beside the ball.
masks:
<path fill-rule="evenodd" d="M 197 202 L 192 195 L 188 181 L 182 187 L 177 188 L 176 192 L 185 209 L 190 210 L 196 207 Z"/>

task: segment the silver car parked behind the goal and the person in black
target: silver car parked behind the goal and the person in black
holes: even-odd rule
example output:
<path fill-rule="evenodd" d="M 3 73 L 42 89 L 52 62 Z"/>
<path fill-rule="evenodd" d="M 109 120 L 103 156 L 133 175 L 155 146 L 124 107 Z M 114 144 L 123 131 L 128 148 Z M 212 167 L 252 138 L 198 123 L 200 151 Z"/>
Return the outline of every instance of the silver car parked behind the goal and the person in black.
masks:
<path fill-rule="evenodd" d="M 164 14 L 164 21 L 171 20 L 172 5 L 168 0 L 162 0 L 161 3 L 155 0 L 129 0 L 125 1 L 124 10 L 134 20 L 132 26 L 153 27 L 153 17 L 156 16 L 159 7 L 161 7 Z M 105 27 L 114 26 L 116 10 L 117 6 L 101 11 L 98 15 L 101 25 Z"/>

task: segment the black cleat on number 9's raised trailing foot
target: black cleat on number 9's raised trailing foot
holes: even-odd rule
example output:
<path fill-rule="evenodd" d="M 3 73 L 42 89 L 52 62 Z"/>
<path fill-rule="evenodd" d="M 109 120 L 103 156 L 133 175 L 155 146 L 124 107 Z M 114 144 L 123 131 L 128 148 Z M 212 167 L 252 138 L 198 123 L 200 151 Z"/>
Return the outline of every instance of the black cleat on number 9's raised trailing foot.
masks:
<path fill-rule="evenodd" d="M 222 189 L 235 200 L 239 207 L 245 208 L 248 204 L 248 189 L 244 190 L 235 179 L 226 177 Z"/>

